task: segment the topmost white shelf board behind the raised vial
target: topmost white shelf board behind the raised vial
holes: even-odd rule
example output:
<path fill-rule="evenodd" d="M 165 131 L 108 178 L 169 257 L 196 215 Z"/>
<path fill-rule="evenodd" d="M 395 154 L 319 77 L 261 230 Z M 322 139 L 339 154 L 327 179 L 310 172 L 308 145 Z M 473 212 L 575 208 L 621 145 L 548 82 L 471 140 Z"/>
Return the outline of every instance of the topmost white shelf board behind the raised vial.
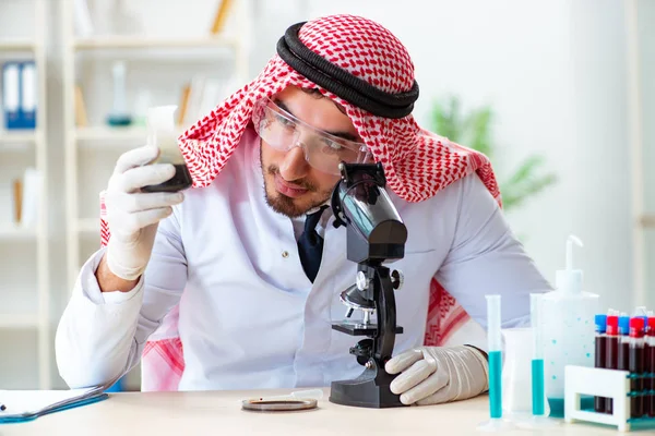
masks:
<path fill-rule="evenodd" d="M 98 49 L 147 49 L 147 48 L 230 48 L 236 39 L 223 36 L 200 36 L 194 38 L 165 38 L 144 36 L 98 36 L 78 38 L 73 47 L 78 50 Z"/>

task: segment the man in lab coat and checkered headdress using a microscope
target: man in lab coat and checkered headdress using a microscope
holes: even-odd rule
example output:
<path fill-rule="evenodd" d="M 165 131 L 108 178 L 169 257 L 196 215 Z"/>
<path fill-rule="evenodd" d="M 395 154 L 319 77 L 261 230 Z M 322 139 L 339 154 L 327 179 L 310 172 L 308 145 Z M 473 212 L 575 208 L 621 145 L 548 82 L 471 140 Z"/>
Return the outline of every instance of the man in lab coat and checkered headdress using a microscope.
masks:
<path fill-rule="evenodd" d="M 182 135 L 193 189 L 142 192 L 175 169 L 144 165 L 155 147 L 123 154 L 106 191 L 108 244 L 83 266 L 57 331 L 64 380 L 124 374 L 174 307 L 180 390 L 329 386 L 359 375 L 353 337 L 331 328 L 356 265 L 345 229 L 322 206 L 338 162 L 378 161 L 408 229 L 393 265 L 404 274 L 404 332 L 385 365 L 398 374 L 392 390 L 405 404 L 486 391 L 484 337 L 425 344 L 431 287 L 481 327 L 484 295 L 501 294 L 503 327 L 512 327 L 528 319 L 529 293 L 550 286 L 503 218 L 487 158 L 420 129 L 417 97 L 412 60 L 388 29 L 326 16 L 290 26 L 264 71 Z"/>

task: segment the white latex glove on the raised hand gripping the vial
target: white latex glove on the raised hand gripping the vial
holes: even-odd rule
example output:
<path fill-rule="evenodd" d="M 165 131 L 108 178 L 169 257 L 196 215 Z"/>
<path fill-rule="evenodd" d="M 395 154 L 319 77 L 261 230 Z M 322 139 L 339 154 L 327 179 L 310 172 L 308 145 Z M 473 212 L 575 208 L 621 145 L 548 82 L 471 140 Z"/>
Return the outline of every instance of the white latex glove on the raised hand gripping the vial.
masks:
<path fill-rule="evenodd" d="M 109 179 L 105 204 L 111 237 L 107 244 L 107 266 L 124 280 L 136 280 L 150 261 L 159 220 L 172 213 L 183 194 L 141 192 L 142 186 L 163 183 L 175 175 L 170 164 L 146 165 L 159 149 L 143 146 L 122 154 Z"/>

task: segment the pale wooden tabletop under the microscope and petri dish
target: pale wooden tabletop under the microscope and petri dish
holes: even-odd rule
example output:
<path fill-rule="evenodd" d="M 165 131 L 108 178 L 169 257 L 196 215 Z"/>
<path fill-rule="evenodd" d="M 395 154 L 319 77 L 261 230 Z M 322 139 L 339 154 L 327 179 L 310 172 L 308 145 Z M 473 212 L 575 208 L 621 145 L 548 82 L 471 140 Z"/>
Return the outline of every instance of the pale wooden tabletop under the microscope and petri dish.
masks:
<path fill-rule="evenodd" d="M 489 417 L 485 396 L 446 404 L 380 410 L 334 404 L 327 400 L 329 389 L 324 389 L 319 408 L 311 411 L 264 413 L 241 410 L 242 399 L 289 392 L 110 393 L 109 399 L 94 404 L 41 416 L 28 423 L 0 425 L 0 436 L 481 435 L 485 433 L 477 432 L 476 426 Z M 548 433 L 514 429 L 503 434 L 592 436 L 621 433 L 591 423 L 574 423 L 563 424 Z"/>

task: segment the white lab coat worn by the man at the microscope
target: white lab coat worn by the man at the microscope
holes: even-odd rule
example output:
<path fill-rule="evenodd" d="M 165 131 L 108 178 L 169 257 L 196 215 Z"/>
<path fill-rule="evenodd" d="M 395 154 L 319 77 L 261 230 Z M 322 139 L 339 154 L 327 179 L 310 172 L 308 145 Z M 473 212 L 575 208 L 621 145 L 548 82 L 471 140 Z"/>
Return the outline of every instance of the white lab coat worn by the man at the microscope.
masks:
<path fill-rule="evenodd" d="M 329 386 L 362 371 L 348 353 L 362 338 L 331 328 L 346 312 L 338 294 L 355 281 L 346 230 L 335 229 L 332 214 L 324 214 L 323 258 L 312 284 L 297 254 L 301 222 L 264 201 L 258 147 L 248 130 L 213 184 L 187 191 L 160 222 L 148 267 L 132 291 L 99 291 L 94 271 L 104 249 L 86 262 L 56 338 L 58 367 L 69 386 L 107 382 L 133 367 L 178 303 L 186 363 L 180 390 Z M 396 291 L 404 332 L 395 353 L 422 344 L 434 276 L 474 327 L 486 325 L 489 293 L 503 298 L 503 327 L 528 319 L 528 294 L 550 286 L 477 175 L 421 203 L 389 192 L 408 229 L 405 257 L 391 264 L 404 274 Z M 486 346 L 480 336 L 457 340 Z"/>

